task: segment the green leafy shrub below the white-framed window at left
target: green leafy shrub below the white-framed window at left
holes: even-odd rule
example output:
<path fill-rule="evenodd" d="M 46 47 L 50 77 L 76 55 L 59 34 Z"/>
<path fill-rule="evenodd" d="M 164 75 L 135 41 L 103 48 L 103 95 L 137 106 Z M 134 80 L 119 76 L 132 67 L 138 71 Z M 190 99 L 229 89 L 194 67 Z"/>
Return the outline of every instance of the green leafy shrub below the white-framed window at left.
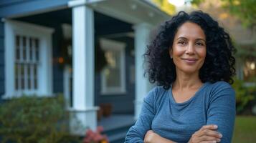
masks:
<path fill-rule="evenodd" d="M 68 132 L 68 117 L 62 96 L 9 99 L 0 104 L 1 142 L 76 142 Z"/>

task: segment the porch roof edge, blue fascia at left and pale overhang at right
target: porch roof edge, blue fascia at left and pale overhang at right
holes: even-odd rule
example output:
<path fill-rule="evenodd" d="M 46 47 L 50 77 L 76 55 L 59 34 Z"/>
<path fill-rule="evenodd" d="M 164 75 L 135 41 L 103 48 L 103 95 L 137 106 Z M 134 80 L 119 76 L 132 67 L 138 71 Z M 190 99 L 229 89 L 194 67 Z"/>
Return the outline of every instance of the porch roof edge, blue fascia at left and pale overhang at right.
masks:
<path fill-rule="evenodd" d="M 147 23 L 155 26 L 171 17 L 158 9 L 151 0 L 2 1 L 0 2 L 0 17 L 14 18 L 40 14 L 80 4 L 86 4 L 95 11 L 131 24 Z"/>

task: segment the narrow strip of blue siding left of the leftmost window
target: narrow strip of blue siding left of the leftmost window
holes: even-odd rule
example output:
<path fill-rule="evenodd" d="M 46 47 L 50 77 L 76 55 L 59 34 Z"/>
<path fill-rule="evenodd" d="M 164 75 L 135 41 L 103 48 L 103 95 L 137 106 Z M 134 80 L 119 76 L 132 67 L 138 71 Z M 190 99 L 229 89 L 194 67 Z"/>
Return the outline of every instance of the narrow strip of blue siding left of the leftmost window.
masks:
<path fill-rule="evenodd" d="M 0 102 L 4 87 L 4 23 L 0 22 Z"/>

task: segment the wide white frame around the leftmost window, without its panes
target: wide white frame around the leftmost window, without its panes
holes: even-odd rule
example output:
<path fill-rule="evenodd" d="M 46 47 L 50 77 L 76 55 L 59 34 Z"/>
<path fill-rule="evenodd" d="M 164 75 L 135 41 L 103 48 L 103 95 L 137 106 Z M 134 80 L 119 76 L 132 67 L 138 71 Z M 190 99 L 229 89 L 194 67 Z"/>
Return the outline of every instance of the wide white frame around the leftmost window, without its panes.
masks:
<path fill-rule="evenodd" d="M 5 94 L 3 98 L 20 97 L 22 94 L 52 95 L 52 33 L 54 29 L 27 24 L 21 21 L 5 19 Z M 32 36 L 39 39 L 39 64 L 37 69 L 37 90 L 15 89 L 15 36 L 16 34 Z"/>

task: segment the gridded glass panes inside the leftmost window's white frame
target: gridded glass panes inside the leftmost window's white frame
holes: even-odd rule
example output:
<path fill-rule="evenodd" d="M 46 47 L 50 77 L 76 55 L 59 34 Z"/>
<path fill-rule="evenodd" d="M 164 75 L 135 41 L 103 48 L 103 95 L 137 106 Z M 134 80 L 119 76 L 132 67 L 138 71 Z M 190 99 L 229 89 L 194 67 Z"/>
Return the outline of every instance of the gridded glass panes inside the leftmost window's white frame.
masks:
<path fill-rule="evenodd" d="M 39 39 L 15 36 L 15 90 L 37 90 L 39 66 Z"/>

